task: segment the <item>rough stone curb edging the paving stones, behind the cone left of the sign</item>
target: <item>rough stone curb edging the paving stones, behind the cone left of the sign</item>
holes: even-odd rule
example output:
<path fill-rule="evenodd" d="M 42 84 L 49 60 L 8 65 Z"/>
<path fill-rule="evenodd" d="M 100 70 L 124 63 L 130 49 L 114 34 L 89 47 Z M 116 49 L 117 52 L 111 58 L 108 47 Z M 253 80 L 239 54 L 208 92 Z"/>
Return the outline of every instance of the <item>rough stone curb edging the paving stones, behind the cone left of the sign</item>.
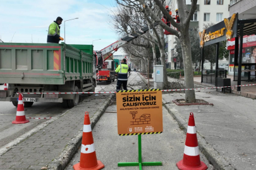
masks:
<path fill-rule="evenodd" d="M 101 118 L 101 115 L 104 113 L 106 108 L 109 106 L 109 103 L 111 102 L 111 99 L 115 95 L 109 95 L 106 98 L 106 101 L 103 105 L 99 107 L 99 110 L 97 110 L 94 115 L 90 118 L 90 125 L 92 129 L 94 128 L 95 124 L 98 122 L 98 120 Z M 78 148 L 82 145 L 82 136 L 83 136 L 83 128 L 81 128 L 80 132 L 76 133 L 75 137 L 68 142 L 66 147 L 63 149 L 61 154 L 59 154 L 58 157 L 55 157 L 55 159 L 48 164 L 48 169 L 51 170 L 64 170 L 66 166 L 68 166 L 68 163 L 71 161 L 73 156 L 76 154 Z"/>

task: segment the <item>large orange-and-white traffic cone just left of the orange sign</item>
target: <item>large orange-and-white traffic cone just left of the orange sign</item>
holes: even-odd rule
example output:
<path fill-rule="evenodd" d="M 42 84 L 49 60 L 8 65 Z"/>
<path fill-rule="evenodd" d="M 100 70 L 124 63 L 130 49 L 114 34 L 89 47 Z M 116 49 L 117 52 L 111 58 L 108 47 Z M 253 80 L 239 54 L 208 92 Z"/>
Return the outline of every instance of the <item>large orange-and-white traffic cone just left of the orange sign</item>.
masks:
<path fill-rule="evenodd" d="M 80 169 L 91 169 L 98 170 L 102 169 L 104 164 L 101 161 L 97 160 L 94 139 L 92 137 L 92 128 L 90 127 L 90 118 L 88 111 L 85 111 L 85 120 L 83 123 L 83 137 L 82 137 L 82 147 L 80 162 L 75 164 L 73 168 L 75 170 Z"/>

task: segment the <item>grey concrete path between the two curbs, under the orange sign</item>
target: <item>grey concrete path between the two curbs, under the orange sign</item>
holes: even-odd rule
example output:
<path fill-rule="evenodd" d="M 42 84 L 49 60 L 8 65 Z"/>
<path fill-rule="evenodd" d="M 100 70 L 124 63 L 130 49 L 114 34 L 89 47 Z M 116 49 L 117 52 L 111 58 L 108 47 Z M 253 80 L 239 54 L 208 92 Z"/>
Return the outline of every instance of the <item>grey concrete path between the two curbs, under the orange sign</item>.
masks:
<path fill-rule="evenodd" d="M 163 128 L 161 134 L 142 135 L 142 162 L 162 162 L 162 166 L 143 166 L 147 170 L 178 169 L 176 163 L 183 159 L 186 134 L 178 123 L 163 107 Z M 138 136 L 119 136 L 116 105 L 109 106 L 92 130 L 97 159 L 106 170 L 139 169 L 135 167 L 118 167 L 118 162 L 138 162 Z M 200 152 L 200 160 L 212 170 L 209 161 Z M 80 161 L 80 149 L 70 161 L 66 170 L 73 170 L 73 165 Z"/>

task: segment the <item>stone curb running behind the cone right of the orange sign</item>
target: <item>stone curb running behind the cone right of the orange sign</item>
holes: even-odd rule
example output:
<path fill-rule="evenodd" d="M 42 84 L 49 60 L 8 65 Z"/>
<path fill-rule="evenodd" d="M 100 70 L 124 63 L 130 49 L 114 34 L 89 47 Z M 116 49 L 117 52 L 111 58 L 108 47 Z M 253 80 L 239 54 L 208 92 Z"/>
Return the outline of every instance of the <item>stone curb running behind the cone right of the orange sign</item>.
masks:
<path fill-rule="evenodd" d="M 186 122 L 179 114 L 178 111 L 175 111 L 173 109 L 169 109 L 168 106 L 164 105 L 162 102 L 164 108 L 168 110 L 169 114 L 173 116 L 174 120 L 178 122 L 178 125 L 183 128 L 183 131 L 186 133 L 187 131 L 187 124 Z M 199 132 L 197 132 L 197 139 L 198 139 L 198 147 L 200 151 L 204 154 L 204 156 L 208 159 L 208 161 L 216 168 L 216 169 L 233 169 L 231 165 L 225 160 L 224 157 L 220 156 L 219 152 L 217 152 L 216 149 L 214 149 L 211 145 L 208 144 L 208 142 L 200 135 Z"/>

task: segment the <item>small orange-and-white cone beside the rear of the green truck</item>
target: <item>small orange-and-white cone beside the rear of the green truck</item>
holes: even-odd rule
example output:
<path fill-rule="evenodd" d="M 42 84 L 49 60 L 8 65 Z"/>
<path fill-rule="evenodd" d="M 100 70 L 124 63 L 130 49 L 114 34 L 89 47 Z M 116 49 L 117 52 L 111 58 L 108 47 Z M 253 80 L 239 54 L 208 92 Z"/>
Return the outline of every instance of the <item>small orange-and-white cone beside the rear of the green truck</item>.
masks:
<path fill-rule="evenodd" d="M 13 120 L 13 124 L 22 124 L 28 123 L 29 120 L 26 120 L 24 106 L 23 106 L 23 97 L 20 94 L 17 106 L 16 120 Z"/>

